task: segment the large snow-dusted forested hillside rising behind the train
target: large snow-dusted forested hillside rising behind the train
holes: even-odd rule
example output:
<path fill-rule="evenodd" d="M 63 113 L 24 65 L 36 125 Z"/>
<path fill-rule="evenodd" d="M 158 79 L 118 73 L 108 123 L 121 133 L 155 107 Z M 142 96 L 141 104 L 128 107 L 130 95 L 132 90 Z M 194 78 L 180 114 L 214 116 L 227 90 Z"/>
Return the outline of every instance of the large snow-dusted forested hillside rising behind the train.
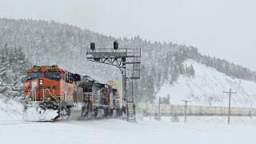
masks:
<path fill-rule="evenodd" d="M 114 40 L 118 40 L 120 48 L 142 49 L 141 79 L 135 86 L 138 88 L 135 97 L 140 102 L 154 102 L 162 86 L 174 86 L 181 77 L 197 78 L 194 63 L 184 63 L 188 58 L 210 66 L 230 78 L 256 82 L 255 71 L 200 54 L 194 46 L 150 42 L 139 36 L 113 38 L 54 21 L 0 18 L 0 93 L 13 97 L 22 96 L 24 71 L 26 67 L 33 65 L 58 65 L 73 73 L 90 75 L 100 82 L 121 80 L 120 71 L 115 66 L 86 60 L 86 48 L 90 46 L 90 42 L 95 42 L 97 49 L 112 47 Z M 15 50 L 22 52 L 16 54 Z M 26 58 L 21 56 L 23 54 Z"/>

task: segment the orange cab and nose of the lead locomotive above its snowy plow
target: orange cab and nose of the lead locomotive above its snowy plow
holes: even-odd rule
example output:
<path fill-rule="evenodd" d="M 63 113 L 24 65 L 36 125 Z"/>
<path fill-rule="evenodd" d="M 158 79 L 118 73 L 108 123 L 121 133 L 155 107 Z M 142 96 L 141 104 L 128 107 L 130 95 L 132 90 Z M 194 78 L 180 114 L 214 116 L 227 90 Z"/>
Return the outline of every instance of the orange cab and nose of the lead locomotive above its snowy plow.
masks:
<path fill-rule="evenodd" d="M 60 101 L 61 80 L 58 66 L 34 66 L 26 71 L 24 94 L 32 101 Z"/>

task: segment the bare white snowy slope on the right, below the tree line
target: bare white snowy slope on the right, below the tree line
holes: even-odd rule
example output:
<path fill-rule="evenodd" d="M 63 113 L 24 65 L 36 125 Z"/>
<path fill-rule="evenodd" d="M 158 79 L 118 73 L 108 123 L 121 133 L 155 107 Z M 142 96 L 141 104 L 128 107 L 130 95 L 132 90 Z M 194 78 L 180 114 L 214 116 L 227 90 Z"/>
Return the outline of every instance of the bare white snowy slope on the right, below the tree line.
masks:
<path fill-rule="evenodd" d="M 190 105 L 228 106 L 229 95 L 223 94 L 223 91 L 231 88 L 238 93 L 232 95 L 231 106 L 256 107 L 255 82 L 230 78 L 194 60 L 186 60 L 184 64 L 194 66 L 194 78 L 180 75 L 173 85 L 164 84 L 158 91 L 157 98 L 170 94 L 172 104 L 183 104 L 182 99 L 188 99 L 191 101 Z"/>

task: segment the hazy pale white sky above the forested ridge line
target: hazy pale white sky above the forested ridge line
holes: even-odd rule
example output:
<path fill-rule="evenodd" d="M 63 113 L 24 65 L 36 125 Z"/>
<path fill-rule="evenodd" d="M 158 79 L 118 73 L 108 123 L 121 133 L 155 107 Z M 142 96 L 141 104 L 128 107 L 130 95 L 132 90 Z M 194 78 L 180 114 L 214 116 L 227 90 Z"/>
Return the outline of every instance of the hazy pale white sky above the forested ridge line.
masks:
<path fill-rule="evenodd" d="M 256 70 L 254 0 L 0 0 L 0 17 L 66 22 L 112 35 L 196 46 Z"/>

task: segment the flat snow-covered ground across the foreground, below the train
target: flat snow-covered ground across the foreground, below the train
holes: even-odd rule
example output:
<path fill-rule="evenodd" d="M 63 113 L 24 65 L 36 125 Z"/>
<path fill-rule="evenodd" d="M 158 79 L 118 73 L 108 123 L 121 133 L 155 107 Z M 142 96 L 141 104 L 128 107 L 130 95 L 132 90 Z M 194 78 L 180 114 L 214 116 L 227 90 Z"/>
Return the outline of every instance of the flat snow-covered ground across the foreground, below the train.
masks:
<path fill-rule="evenodd" d="M 182 118 L 180 118 L 182 119 Z M 188 117 L 188 122 L 154 121 L 137 123 L 119 119 L 91 121 L 22 122 L 0 121 L 0 143 L 256 143 L 256 118 Z"/>

